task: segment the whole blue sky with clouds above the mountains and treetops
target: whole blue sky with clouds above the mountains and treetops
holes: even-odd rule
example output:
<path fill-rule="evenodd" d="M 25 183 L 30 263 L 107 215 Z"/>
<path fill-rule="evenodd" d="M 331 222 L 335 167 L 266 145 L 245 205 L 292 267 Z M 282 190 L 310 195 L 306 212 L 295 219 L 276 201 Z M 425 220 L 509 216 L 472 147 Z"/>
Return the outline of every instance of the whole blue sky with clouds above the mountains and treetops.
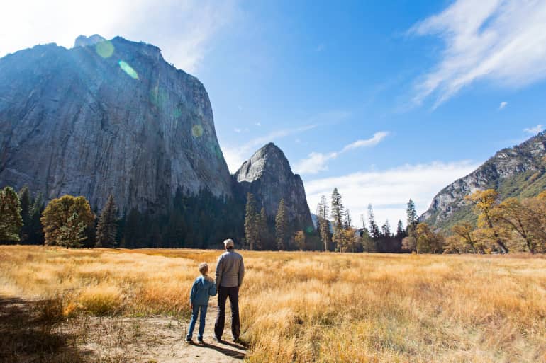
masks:
<path fill-rule="evenodd" d="M 211 98 L 230 171 L 285 152 L 311 211 L 338 187 L 355 224 L 396 225 L 540 131 L 546 1 L 18 1 L 0 56 L 79 34 L 158 45 Z M 86 5 L 82 5 L 86 4 Z"/>

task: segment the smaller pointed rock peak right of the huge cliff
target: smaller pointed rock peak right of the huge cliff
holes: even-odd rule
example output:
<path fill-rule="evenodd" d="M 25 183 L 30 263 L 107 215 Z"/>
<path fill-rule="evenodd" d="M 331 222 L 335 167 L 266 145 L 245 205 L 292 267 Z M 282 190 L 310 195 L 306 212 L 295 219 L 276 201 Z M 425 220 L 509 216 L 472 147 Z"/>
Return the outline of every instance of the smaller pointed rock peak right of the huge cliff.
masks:
<path fill-rule="evenodd" d="M 238 192 L 251 192 L 258 209 L 265 207 L 268 217 L 277 214 L 279 202 L 284 199 L 289 211 L 289 221 L 298 229 L 313 229 L 311 212 L 307 204 L 303 182 L 292 173 L 290 164 L 278 146 L 269 143 L 243 163 L 233 176 L 238 182 Z"/>

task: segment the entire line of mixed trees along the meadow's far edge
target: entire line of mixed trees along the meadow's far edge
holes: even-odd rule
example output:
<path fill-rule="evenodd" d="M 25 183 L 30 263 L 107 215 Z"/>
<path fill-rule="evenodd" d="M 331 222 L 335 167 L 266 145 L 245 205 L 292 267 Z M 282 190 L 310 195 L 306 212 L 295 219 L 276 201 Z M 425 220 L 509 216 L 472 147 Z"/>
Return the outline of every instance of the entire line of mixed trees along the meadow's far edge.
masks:
<path fill-rule="evenodd" d="M 0 190 L 0 242 L 63 247 L 210 248 L 225 236 L 243 241 L 250 250 L 326 250 L 379 253 L 508 253 L 546 252 L 546 191 L 518 200 L 499 200 L 495 190 L 479 190 L 465 201 L 473 205 L 477 222 L 462 221 L 438 231 L 418 214 L 410 199 L 406 227 L 398 221 L 391 231 L 388 220 L 377 224 L 368 205 L 367 218 L 355 227 L 350 210 L 337 188 L 330 202 L 323 195 L 317 205 L 315 229 L 301 229 L 290 221 L 289 208 L 279 202 L 274 217 L 258 208 L 254 195 L 246 200 L 217 197 L 208 190 L 198 194 L 177 190 L 165 214 L 131 209 L 118 217 L 113 196 L 101 213 L 84 197 L 64 195 L 47 205 L 27 187 L 18 192 Z M 97 217 L 98 216 L 98 217 Z M 292 216 L 293 217 L 293 216 Z"/>

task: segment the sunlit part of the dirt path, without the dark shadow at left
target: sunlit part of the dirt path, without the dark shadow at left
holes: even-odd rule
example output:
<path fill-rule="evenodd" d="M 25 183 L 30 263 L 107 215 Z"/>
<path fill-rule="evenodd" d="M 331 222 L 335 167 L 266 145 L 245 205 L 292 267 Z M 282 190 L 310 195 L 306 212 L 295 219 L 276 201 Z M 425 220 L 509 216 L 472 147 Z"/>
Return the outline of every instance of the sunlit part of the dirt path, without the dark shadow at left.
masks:
<path fill-rule="evenodd" d="M 204 345 L 184 342 L 188 323 L 172 318 L 87 318 L 80 325 L 91 333 L 80 348 L 108 362 L 242 362 L 246 354 L 245 347 L 229 341 L 218 343 L 212 339 L 217 311 L 216 306 L 209 306 Z M 196 330 L 198 327 L 199 322 Z"/>

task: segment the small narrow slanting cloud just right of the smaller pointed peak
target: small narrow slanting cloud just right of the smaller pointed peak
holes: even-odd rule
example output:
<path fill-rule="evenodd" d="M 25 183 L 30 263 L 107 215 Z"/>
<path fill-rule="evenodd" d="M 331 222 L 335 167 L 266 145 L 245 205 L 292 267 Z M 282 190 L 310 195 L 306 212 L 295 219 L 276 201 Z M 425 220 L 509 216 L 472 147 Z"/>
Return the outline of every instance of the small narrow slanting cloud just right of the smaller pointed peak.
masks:
<path fill-rule="evenodd" d="M 373 137 L 364 140 L 357 140 L 351 144 L 345 145 L 341 151 L 334 151 L 328 154 L 312 152 L 306 159 L 301 159 L 294 166 L 294 171 L 300 174 L 316 174 L 321 171 L 328 170 L 328 161 L 338 158 L 341 154 L 352 149 L 360 147 L 369 147 L 379 144 L 389 132 L 376 132 Z"/>

